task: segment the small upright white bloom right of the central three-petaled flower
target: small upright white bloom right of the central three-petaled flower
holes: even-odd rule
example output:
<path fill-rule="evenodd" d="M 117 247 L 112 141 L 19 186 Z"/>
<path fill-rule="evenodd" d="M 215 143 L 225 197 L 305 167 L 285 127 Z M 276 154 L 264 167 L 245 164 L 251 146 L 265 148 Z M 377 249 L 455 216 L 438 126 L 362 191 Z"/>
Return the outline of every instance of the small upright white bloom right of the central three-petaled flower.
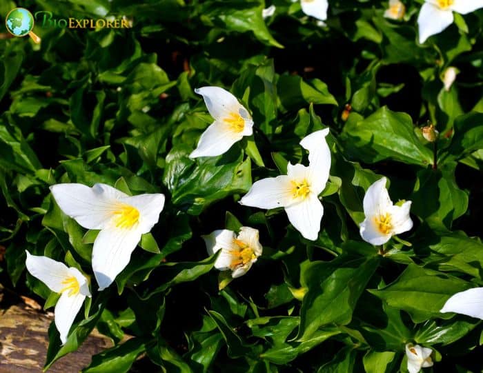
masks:
<path fill-rule="evenodd" d="M 373 245 L 382 245 L 394 234 L 400 234 L 413 228 L 409 216 L 411 201 L 401 206 L 393 205 L 386 189 L 386 178 L 376 181 L 364 195 L 364 215 L 366 219 L 360 225 L 362 239 Z"/>

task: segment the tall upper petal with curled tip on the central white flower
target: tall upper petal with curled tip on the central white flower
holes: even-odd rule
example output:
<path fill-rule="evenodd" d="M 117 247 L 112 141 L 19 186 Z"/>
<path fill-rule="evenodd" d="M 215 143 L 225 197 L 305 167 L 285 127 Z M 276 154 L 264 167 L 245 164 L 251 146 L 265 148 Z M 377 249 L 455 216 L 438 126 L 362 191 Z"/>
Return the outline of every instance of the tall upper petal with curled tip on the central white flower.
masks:
<path fill-rule="evenodd" d="M 300 145 L 308 150 L 308 180 L 311 190 L 319 195 L 324 190 L 328 174 L 331 171 L 331 150 L 326 136 L 328 128 L 309 134 L 300 141 Z"/>

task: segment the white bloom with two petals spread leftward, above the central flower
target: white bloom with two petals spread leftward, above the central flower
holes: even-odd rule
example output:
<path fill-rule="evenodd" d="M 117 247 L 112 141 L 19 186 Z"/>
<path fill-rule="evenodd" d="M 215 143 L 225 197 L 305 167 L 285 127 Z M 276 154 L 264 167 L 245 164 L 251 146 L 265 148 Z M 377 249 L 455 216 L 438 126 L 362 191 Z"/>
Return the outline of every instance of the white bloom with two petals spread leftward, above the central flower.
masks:
<path fill-rule="evenodd" d="M 202 87 L 195 92 L 203 96 L 215 121 L 201 134 L 190 158 L 223 154 L 244 136 L 253 134 L 253 119 L 233 94 L 219 87 Z"/>

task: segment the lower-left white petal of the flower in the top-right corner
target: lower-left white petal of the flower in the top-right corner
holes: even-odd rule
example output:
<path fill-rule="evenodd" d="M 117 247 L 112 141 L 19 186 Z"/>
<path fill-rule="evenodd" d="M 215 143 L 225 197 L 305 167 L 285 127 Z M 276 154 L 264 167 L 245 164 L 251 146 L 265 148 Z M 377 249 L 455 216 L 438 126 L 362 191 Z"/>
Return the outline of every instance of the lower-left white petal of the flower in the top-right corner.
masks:
<path fill-rule="evenodd" d="M 468 0 L 466 0 L 468 1 Z M 431 3 L 424 3 L 417 17 L 420 26 L 420 43 L 424 43 L 428 37 L 439 34 L 453 23 L 453 12 L 441 10 Z"/>

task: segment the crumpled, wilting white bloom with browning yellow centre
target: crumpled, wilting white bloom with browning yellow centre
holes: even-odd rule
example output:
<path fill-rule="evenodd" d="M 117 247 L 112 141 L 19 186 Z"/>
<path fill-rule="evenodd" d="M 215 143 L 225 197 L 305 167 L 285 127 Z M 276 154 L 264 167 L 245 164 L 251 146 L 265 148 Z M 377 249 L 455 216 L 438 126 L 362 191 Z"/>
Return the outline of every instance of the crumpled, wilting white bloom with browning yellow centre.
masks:
<path fill-rule="evenodd" d="M 242 227 L 238 236 L 231 230 L 215 230 L 202 237 L 209 255 L 221 250 L 215 261 L 215 268 L 221 271 L 231 270 L 233 279 L 246 274 L 262 255 L 258 230 L 254 228 Z"/>

